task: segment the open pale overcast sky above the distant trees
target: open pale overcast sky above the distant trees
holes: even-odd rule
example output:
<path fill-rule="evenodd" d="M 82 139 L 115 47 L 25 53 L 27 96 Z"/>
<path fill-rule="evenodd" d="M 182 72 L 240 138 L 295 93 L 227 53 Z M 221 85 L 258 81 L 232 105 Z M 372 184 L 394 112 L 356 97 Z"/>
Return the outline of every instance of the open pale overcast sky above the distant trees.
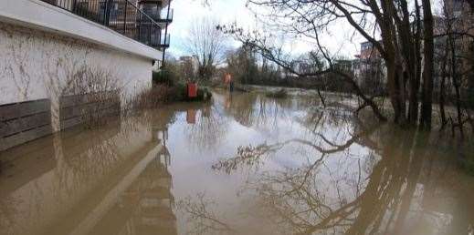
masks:
<path fill-rule="evenodd" d="M 247 0 L 213 0 L 209 6 L 202 5 L 200 0 L 174 0 L 172 8 L 174 8 L 174 21 L 169 26 L 169 32 L 172 37 L 171 46 L 168 50 L 173 56 L 188 55 L 184 40 L 187 36 L 188 28 L 195 19 L 200 17 L 215 17 L 221 24 L 229 24 L 237 22 L 238 26 L 245 29 L 258 28 L 261 24 L 255 15 L 246 7 Z M 253 6 L 254 7 L 254 6 Z M 256 8 L 253 8 L 256 10 Z M 258 9 L 257 9 L 258 10 Z M 338 55 L 353 57 L 359 50 L 359 44 L 363 41 L 360 37 L 349 40 L 353 30 L 350 26 L 339 24 L 333 26 L 327 36 L 322 38 L 324 46 L 328 46 L 333 53 Z M 237 42 L 232 46 L 237 47 Z M 313 45 L 304 38 L 299 40 L 291 40 L 286 43 L 286 50 L 297 56 L 304 52 L 310 51 Z"/>

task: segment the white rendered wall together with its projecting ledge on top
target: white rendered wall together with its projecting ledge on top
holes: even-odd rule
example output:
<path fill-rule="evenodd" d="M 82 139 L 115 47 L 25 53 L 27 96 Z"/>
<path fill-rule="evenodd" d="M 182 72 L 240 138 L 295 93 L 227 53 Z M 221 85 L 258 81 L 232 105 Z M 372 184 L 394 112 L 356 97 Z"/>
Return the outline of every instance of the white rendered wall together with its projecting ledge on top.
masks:
<path fill-rule="evenodd" d="M 58 97 L 81 68 L 113 77 L 122 98 L 132 98 L 152 86 L 153 61 L 162 56 L 40 0 L 0 0 L 0 105 L 49 98 L 54 130 Z"/>

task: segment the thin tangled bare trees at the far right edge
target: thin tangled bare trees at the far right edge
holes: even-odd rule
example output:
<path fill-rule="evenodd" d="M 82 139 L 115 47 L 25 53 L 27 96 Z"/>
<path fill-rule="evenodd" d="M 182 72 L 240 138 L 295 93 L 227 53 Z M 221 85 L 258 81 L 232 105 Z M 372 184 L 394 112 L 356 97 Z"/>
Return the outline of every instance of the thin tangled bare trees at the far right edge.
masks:
<path fill-rule="evenodd" d="M 435 93 L 439 94 L 441 128 L 449 123 L 452 133 L 458 128 L 462 138 L 464 124 L 471 123 L 469 89 L 472 86 L 469 80 L 472 77 L 472 60 L 469 59 L 469 46 L 474 45 L 474 35 L 471 33 L 474 18 L 468 14 L 466 3 L 445 1 L 442 6 L 442 15 L 437 19 L 434 35 L 435 78 L 439 83 Z"/>

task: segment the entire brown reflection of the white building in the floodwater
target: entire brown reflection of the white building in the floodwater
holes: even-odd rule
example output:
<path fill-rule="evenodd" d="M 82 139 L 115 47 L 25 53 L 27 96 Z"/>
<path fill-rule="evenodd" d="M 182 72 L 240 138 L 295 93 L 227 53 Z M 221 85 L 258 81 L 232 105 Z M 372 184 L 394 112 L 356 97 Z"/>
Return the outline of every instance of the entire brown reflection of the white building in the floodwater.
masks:
<path fill-rule="evenodd" d="M 0 234 L 174 234 L 164 147 L 173 115 L 164 116 L 73 129 L 0 156 L 13 166 L 0 172 Z"/>

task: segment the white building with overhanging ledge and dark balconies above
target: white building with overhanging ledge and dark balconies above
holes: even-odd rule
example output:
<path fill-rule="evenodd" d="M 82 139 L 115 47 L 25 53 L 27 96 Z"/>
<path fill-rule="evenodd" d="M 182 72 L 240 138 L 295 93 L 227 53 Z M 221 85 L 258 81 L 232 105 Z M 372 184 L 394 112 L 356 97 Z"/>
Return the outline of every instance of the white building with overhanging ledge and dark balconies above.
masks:
<path fill-rule="evenodd" d="M 62 97 L 120 90 L 123 106 L 151 87 L 170 43 L 170 1 L 0 0 L 0 132 L 12 131 L 10 104 L 45 101 L 58 131 Z"/>

